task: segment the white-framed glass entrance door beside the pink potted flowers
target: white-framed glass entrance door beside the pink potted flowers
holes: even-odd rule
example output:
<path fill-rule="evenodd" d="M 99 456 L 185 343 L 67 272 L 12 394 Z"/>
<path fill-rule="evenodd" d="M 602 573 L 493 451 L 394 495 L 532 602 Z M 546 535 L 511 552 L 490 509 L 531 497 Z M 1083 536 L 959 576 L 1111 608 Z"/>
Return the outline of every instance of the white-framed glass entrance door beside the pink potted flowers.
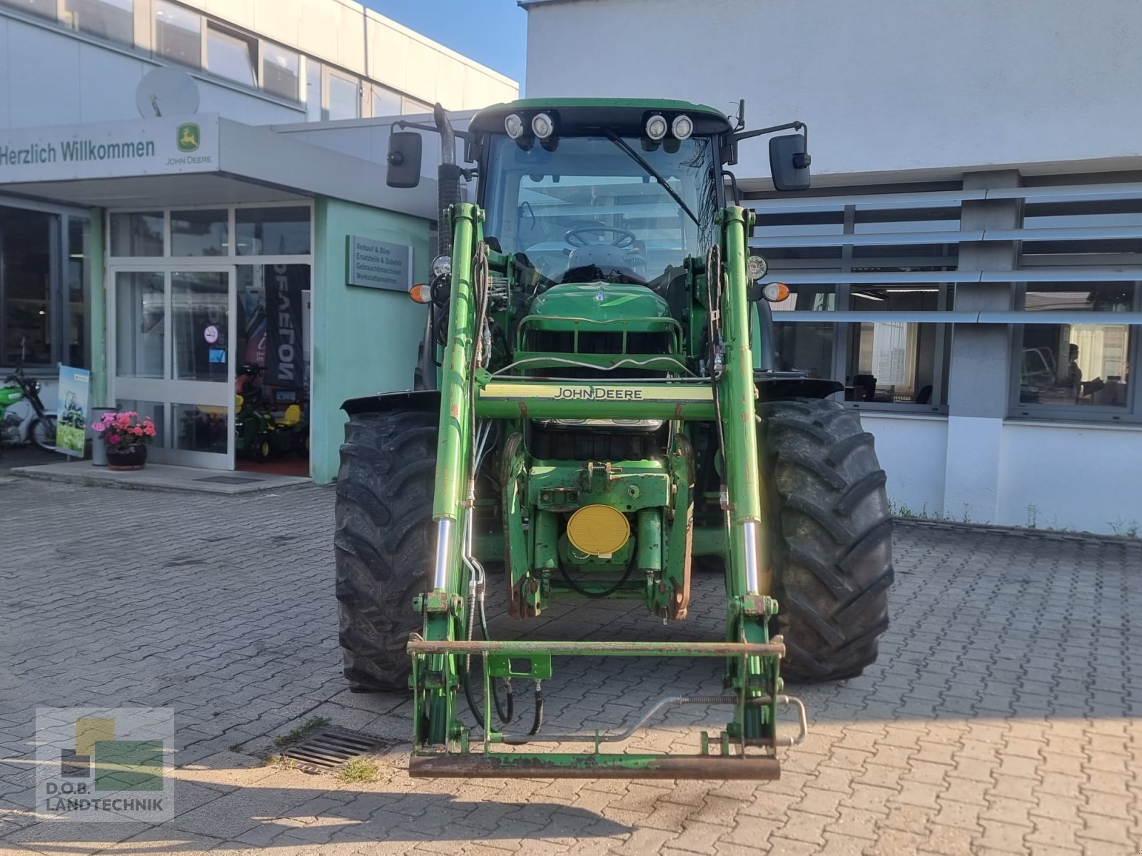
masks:
<path fill-rule="evenodd" d="M 154 420 L 150 459 L 233 469 L 234 269 L 116 269 L 111 281 L 112 396 Z"/>

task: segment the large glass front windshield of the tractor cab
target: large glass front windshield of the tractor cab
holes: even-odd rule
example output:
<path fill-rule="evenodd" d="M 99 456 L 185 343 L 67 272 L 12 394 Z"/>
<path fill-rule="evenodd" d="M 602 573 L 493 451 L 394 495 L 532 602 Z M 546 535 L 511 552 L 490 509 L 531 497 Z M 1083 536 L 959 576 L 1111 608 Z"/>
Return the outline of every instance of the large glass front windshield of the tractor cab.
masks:
<path fill-rule="evenodd" d="M 652 284 L 710 245 L 709 137 L 644 144 L 600 135 L 525 147 L 498 136 L 490 145 L 484 235 L 539 282 Z"/>

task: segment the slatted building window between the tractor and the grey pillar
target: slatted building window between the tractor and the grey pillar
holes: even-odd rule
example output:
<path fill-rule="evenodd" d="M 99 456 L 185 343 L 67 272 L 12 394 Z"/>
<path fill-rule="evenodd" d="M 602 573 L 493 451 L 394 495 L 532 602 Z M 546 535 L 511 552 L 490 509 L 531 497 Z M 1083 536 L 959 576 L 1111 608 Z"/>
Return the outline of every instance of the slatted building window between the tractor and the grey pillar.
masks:
<path fill-rule="evenodd" d="M 766 199 L 757 213 L 767 280 L 790 289 L 772 307 L 778 369 L 844 381 L 839 397 L 853 407 L 942 410 L 951 326 L 938 313 L 952 308 L 952 286 L 940 280 L 958 264 L 958 207 L 875 193 L 868 202 Z M 869 320 L 833 321 L 835 310 Z M 801 317 L 782 318 L 791 312 Z M 918 323 L 917 312 L 933 322 Z"/>

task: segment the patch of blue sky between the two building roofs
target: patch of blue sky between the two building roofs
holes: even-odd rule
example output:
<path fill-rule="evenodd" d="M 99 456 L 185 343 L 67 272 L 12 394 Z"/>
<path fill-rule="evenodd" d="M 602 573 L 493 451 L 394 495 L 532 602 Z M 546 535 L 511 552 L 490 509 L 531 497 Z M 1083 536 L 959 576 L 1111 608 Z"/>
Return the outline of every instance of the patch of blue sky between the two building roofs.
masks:
<path fill-rule="evenodd" d="M 387 18 L 520 82 L 528 13 L 515 0 L 362 0 Z"/>

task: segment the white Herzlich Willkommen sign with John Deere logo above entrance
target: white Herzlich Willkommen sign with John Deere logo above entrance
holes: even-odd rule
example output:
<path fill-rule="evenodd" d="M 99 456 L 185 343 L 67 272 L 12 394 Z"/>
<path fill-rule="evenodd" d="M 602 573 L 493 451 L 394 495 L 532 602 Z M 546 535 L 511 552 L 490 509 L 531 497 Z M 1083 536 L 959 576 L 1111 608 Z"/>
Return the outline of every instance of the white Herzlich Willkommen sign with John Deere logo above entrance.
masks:
<path fill-rule="evenodd" d="M 0 132 L 0 184 L 218 169 L 218 118 L 32 128 Z"/>

